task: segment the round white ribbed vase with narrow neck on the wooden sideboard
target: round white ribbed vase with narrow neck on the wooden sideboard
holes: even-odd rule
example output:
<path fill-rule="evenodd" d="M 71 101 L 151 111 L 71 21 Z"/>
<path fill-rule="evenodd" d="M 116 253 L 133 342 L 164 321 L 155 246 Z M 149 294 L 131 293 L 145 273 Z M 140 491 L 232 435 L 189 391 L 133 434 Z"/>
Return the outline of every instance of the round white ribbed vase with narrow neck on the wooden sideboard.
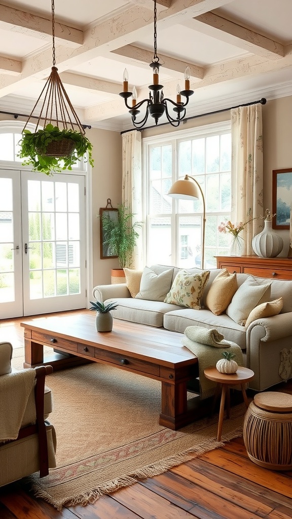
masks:
<path fill-rule="evenodd" d="M 251 242 L 255 253 L 263 258 L 275 258 L 283 249 L 281 236 L 272 230 L 272 221 L 265 220 L 261 233 L 254 236 Z"/>

